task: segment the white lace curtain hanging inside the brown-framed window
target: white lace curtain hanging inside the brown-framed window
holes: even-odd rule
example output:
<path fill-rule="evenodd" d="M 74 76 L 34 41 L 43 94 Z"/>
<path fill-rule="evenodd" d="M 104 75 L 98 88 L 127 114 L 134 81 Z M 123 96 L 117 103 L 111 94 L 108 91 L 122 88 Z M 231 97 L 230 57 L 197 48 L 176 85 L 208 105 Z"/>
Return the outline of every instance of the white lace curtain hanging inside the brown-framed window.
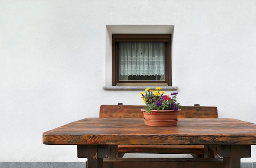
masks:
<path fill-rule="evenodd" d="M 164 75 L 164 42 L 120 42 L 120 75 Z"/>

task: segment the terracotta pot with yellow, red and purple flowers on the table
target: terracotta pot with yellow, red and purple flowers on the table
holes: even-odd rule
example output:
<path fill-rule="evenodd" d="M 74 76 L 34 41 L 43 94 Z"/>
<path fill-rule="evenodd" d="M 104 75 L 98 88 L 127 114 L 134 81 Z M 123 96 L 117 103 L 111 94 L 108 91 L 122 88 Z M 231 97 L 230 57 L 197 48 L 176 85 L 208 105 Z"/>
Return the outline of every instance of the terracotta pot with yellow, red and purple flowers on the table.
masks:
<path fill-rule="evenodd" d="M 140 93 L 143 102 L 147 106 L 147 108 L 141 109 L 144 113 L 145 124 L 148 125 L 148 122 L 154 121 L 154 124 L 163 122 L 167 124 L 164 126 L 176 125 L 177 116 L 182 108 L 180 103 L 177 102 L 178 93 L 171 93 L 170 96 L 165 95 L 166 93 L 161 91 L 160 87 L 155 88 L 154 93 L 150 88 L 146 88 L 145 91 L 145 94 L 144 92 Z"/>

